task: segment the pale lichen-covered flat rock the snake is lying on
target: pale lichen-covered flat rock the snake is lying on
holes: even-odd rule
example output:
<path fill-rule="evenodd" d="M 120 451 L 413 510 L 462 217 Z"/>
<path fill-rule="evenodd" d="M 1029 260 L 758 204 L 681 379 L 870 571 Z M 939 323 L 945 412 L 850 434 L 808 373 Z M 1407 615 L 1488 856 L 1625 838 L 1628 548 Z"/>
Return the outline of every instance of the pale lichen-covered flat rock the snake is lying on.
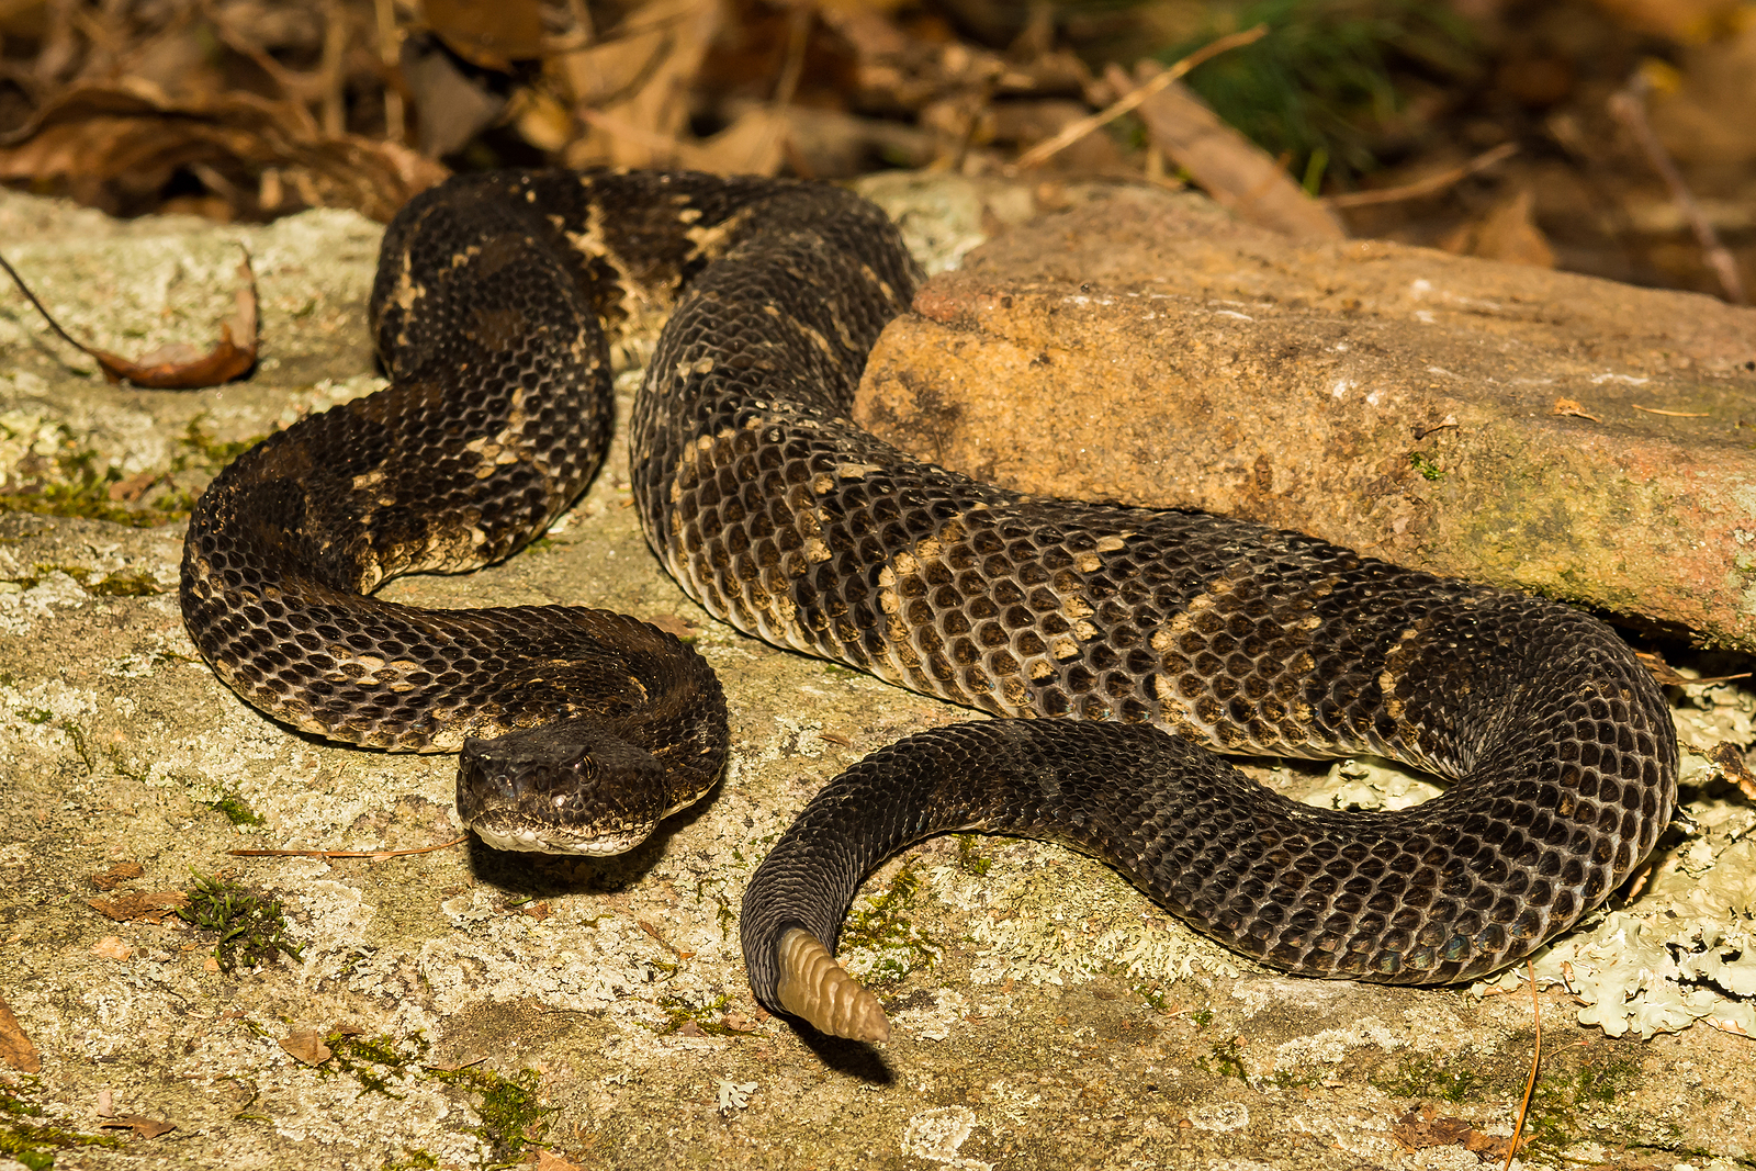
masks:
<path fill-rule="evenodd" d="M 378 233 L 334 212 L 114 225 L 0 195 L 0 239 L 28 241 L 9 258 L 100 346 L 205 346 L 230 313 L 241 241 L 265 335 L 249 383 L 137 392 L 105 386 L 0 295 L 14 507 L 0 514 L 0 995 L 16 1015 L 16 1027 L 0 1015 L 0 1060 L 14 1064 L 0 1067 L 0 1139 L 23 1143 L 11 1150 L 105 1171 L 483 1167 L 518 1159 L 530 1129 L 551 1171 L 1357 1171 L 1475 1167 L 1470 1143 L 1510 1134 L 1528 988 L 1256 969 L 1103 866 L 1034 843 L 939 839 L 867 887 L 843 952 L 892 1013 L 885 1048 L 806 1039 L 762 1013 L 736 932 L 769 843 L 853 760 L 969 713 L 708 620 L 646 550 L 622 446 L 537 548 L 379 597 L 581 602 L 694 625 L 730 699 L 718 792 L 601 862 L 479 846 L 232 855 L 457 832 L 450 758 L 265 720 L 197 658 L 177 613 L 179 500 L 230 444 L 379 384 L 363 325 Z M 1749 739 L 1744 709 L 1703 708 L 1723 725 L 1714 739 Z M 1375 799 L 1321 765 L 1257 776 L 1317 801 Z M 1723 799 L 1689 808 L 1712 827 L 1675 880 L 1693 890 L 1752 818 Z M 191 873 L 277 899 L 297 959 L 223 971 L 211 932 L 162 915 L 160 895 L 188 890 Z M 1519 1166 L 1747 1166 L 1751 1041 L 1707 1027 L 1608 1038 L 1580 1027 L 1561 990 L 1540 1006 L 1540 1145 Z M 21 1036 L 33 1078 L 18 1073 Z M 19 1166 L 0 1153 L 0 1169 Z"/>

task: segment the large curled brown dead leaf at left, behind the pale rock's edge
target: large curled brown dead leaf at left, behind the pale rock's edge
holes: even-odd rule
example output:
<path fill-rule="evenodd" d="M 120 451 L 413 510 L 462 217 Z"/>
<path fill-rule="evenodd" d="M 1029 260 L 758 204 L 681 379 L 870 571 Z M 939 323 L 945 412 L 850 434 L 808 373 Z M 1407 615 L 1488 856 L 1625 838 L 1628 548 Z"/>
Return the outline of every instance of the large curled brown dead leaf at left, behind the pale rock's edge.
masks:
<path fill-rule="evenodd" d="M 81 86 L 0 135 L 0 179 L 111 212 L 156 207 L 179 170 L 218 176 L 237 216 L 351 207 L 379 221 L 448 174 L 395 142 L 325 135 L 302 105 L 249 93 L 179 104 L 126 84 Z"/>

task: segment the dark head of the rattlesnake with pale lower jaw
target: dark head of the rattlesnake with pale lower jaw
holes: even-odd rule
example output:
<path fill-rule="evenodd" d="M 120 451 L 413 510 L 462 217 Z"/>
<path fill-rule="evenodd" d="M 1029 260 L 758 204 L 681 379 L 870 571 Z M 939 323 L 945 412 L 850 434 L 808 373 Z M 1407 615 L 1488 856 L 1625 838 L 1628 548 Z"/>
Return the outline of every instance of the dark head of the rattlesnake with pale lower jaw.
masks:
<path fill-rule="evenodd" d="M 465 739 L 457 811 L 495 850 L 625 853 L 671 813 L 664 765 L 594 720 Z"/>

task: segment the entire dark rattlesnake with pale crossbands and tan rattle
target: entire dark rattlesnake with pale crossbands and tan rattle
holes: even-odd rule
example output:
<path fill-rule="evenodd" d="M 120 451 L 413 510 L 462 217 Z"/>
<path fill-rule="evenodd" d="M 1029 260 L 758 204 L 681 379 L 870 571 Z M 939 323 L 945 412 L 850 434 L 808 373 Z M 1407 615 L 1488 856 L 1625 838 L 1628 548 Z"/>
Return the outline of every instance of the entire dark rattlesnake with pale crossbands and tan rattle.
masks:
<path fill-rule="evenodd" d="M 390 388 L 262 442 L 198 502 L 190 634 L 293 727 L 462 750 L 458 806 L 493 846 L 630 848 L 723 765 L 692 650 L 602 611 L 371 592 L 541 534 L 602 458 L 609 341 L 664 320 L 630 448 L 666 569 L 739 630 L 1015 716 L 908 737 L 810 802 L 743 902 L 771 1009 L 885 1036 L 836 936 L 873 867 L 946 830 L 1066 843 L 1249 957 L 1396 983 L 1528 955 L 1652 850 L 1675 732 L 1603 623 L 1205 513 L 1004 492 L 855 427 L 918 279 L 890 221 L 831 186 L 451 179 L 385 235 Z M 1338 813 L 1208 750 L 1375 753 L 1450 785 Z"/>

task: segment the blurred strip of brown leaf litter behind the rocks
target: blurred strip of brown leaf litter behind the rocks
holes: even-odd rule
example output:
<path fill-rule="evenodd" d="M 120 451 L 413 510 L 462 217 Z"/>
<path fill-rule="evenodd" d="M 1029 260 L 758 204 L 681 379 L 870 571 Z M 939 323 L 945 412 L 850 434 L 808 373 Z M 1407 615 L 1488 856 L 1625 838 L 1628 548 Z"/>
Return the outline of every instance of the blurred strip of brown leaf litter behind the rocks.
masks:
<path fill-rule="evenodd" d="M 125 216 L 383 219 L 504 165 L 1096 176 L 1243 218 L 1287 184 L 1335 232 L 1735 298 L 1752 114 L 1756 0 L 0 0 L 0 183 Z"/>

